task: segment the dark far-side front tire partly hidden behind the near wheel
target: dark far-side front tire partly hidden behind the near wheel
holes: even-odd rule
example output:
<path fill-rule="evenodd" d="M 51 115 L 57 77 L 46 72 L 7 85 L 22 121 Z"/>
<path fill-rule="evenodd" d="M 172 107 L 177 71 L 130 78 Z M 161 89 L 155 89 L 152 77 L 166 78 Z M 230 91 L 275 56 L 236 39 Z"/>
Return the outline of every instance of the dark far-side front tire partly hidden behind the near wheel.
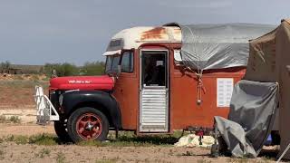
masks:
<path fill-rule="evenodd" d="M 67 132 L 66 125 L 65 125 L 64 121 L 62 121 L 62 120 L 54 121 L 54 130 L 55 130 L 57 137 L 61 141 L 63 141 L 63 142 L 72 141 L 72 139 L 70 138 L 70 136 Z"/>

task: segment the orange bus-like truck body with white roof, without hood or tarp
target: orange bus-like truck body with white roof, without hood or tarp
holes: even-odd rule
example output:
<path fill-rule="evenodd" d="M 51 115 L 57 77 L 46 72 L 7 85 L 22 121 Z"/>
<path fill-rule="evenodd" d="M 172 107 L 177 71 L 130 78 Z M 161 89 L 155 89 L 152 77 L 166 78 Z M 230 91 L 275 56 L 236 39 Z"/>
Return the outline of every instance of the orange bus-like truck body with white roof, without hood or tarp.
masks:
<path fill-rule="evenodd" d="M 210 129 L 214 116 L 227 118 L 231 89 L 245 67 L 205 71 L 201 77 L 183 65 L 180 48 L 177 26 L 134 27 L 113 36 L 104 55 L 106 73 L 121 65 L 113 96 L 122 129 L 172 133 Z"/>

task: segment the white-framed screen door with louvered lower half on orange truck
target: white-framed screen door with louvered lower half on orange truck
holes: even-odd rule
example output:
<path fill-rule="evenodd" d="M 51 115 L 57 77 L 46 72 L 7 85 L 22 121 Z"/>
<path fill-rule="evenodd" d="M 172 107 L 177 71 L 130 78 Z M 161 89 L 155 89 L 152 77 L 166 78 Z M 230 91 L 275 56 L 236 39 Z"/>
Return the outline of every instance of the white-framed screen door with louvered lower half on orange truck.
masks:
<path fill-rule="evenodd" d="M 140 132 L 169 131 L 168 51 L 140 52 Z"/>

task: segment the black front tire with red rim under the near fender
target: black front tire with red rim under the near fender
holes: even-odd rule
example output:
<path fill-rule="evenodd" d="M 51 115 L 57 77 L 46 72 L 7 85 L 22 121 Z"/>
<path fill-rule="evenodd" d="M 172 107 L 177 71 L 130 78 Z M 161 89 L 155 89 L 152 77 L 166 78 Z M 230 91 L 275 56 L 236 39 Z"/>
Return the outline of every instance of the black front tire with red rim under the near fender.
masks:
<path fill-rule="evenodd" d="M 68 134 L 73 142 L 82 140 L 105 140 L 109 132 L 109 121 L 100 111 L 90 107 L 73 111 L 67 122 Z"/>

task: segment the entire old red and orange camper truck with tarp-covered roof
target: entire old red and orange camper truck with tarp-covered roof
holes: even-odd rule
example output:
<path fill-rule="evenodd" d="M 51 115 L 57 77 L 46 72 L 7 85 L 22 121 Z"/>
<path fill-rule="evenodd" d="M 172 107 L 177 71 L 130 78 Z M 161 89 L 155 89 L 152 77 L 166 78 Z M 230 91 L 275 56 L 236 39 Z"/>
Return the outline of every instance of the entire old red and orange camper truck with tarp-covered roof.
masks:
<path fill-rule="evenodd" d="M 110 129 L 203 134 L 215 115 L 227 118 L 233 85 L 247 66 L 247 40 L 267 31 L 254 24 L 122 30 L 103 53 L 104 75 L 52 78 L 49 96 L 36 87 L 37 123 L 54 121 L 57 136 L 74 142 L 104 140 Z"/>

